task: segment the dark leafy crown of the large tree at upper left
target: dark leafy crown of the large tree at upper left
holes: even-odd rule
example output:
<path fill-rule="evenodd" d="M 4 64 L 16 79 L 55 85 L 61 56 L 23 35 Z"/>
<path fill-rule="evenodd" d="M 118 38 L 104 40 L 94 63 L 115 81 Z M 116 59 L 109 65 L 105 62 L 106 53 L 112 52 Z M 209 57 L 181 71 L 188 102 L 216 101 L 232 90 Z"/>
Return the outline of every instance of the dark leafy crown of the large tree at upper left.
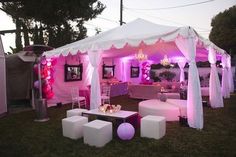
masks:
<path fill-rule="evenodd" d="M 1 3 L 0 9 L 14 21 L 18 19 L 23 24 L 27 23 L 24 26 L 32 30 L 40 26 L 37 33 L 40 41 L 47 41 L 52 47 L 85 38 L 87 29 L 83 26 L 84 21 L 95 18 L 105 9 L 98 0 L 22 0 Z"/>

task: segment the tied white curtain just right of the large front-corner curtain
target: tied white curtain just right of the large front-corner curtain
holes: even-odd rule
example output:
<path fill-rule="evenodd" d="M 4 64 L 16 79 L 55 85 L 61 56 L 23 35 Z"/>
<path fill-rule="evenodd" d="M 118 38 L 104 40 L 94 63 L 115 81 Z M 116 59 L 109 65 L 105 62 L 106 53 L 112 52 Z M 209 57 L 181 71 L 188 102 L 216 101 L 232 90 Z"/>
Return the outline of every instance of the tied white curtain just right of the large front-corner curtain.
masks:
<path fill-rule="evenodd" d="M 216 52 L 212 47 L 209 47 L 208 51 L 208 61 L 211 63 L 211 73 L 209 81 L 210 104 L 212 108 L 224 107 L 220 80 L 216 68 Z"/>

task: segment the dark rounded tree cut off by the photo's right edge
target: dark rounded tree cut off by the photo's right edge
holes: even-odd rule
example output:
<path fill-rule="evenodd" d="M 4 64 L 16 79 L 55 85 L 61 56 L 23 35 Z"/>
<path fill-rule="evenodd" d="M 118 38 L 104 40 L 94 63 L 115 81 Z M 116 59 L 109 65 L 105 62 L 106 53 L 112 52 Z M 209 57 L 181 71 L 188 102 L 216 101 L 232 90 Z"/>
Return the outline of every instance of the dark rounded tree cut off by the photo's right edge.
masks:
<path fill-rule="evenodd" d="M 211 26 L 210 40 L 231 55 L 236 54 L 236 5 L 216 15 Z"/>

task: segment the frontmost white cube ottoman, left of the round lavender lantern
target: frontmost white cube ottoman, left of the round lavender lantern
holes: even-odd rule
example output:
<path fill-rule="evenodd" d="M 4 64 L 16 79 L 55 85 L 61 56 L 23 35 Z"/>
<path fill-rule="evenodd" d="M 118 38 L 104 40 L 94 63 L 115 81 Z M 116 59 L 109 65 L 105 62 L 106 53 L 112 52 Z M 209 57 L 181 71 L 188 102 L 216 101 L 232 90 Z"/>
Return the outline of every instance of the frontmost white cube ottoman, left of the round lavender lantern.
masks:
<path fill-rule="evenodd" d="M 90 146 L 102 147 L 112 140 L 112 123 L 94 120 L 84 124 L 84 143 Z"/>

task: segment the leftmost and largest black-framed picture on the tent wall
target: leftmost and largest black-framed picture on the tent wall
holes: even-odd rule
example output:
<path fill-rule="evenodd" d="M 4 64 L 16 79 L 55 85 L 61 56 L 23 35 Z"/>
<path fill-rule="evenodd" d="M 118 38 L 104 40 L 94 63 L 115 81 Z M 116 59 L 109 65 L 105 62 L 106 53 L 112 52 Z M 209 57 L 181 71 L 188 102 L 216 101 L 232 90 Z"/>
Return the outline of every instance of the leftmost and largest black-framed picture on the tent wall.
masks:
<path fill-rule="evenodd" d="M 65 64 L 65 82 L 81 81 L 83 73 L 83 65 L 68 65 Z"/>

